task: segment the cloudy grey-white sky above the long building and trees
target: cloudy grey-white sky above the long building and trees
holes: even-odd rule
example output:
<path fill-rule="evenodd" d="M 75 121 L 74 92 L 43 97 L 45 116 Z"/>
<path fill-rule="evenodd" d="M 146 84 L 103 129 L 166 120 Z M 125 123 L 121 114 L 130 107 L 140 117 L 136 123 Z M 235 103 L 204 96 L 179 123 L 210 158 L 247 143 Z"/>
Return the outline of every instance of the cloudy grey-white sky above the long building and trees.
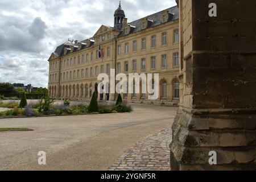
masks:
<path fill-rule="evenodd" d="M 48 58 L 68 38 L 84 40 L 101 24 L 113 26 L 118 0 L 1 0 L 0 82 L 48 85 Z M 175 0 L 123 0 L 128 22 Z"/>

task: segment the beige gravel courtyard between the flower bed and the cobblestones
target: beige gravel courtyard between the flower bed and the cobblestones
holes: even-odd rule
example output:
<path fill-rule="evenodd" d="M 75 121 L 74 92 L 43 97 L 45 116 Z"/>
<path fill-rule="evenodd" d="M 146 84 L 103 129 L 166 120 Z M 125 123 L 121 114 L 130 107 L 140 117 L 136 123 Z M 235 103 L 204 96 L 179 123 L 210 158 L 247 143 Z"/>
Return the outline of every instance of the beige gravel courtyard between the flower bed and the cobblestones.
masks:
<path fill-rule="evenodd" d="M 131 113 L 0 119 L 0 170 L 107 170 L 135 143 L 172 125 L 176 107 L 133 105 Z M 38 152 L 46 165 L 38 165 Z"/>

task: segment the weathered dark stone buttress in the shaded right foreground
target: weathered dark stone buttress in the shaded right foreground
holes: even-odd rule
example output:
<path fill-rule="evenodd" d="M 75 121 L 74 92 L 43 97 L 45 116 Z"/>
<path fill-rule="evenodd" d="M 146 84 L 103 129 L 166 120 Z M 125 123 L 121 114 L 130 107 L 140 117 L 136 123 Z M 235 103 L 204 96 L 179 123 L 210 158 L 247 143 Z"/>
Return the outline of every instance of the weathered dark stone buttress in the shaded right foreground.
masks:
<path fill-rule="evenodd" d="M 179 0 L 172 170 L 256 169 L 256 2 Z M 217 17 L 208 15 L 216 3 Z M 217 165 L 209 164 L 209 152 Z"/>

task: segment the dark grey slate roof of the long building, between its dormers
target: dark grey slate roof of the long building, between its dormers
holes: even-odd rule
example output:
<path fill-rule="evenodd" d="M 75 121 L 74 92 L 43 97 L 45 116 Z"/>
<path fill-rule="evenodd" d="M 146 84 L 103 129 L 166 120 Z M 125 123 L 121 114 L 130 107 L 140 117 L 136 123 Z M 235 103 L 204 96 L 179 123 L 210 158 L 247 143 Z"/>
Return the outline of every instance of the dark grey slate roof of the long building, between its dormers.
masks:
<path fill-rule="evenodd" d="M 169 9 L 166 9 L 166 10 L 169 11 L 170 14 L 174 14 L 172 19 L 169 19 L 168 22 L 179 19 L 179 8 L 177 6 L 170 7 Z M 148 16 L 144 17 L 144 18 L 148 18 L 148 20 L 152 20 L 151 23 L 148 23 L 148 28 L 155 27 L 155 26 L 158 26 L 159 24 L 161 24 L 161 21 L 162 21 L 161 12 L 162 11 L 159 11 L 158 13 L 155 13 L 155 14 L 148 15 Z M 143 18 L 129 23 L 131 25 L 130 34 L 133 34 L 134 32 L 141 31 L 142 19 Z M 110 27 L 110 26 L 107 26 L 107 27 L 112 28 L 113 30 L 115 30 L 114 27 Z M 122 36 L 125 36 L 124 31 L 120 32 L 120 34 L 118 35 L 118 38 L 122 37 Z M 94 38 L 89 38 L 89 39 L 94 40 Z M 86 39 L 82 40 L 81 43 L 86 43 Z M 55 49 L 54 53 L 57 57 L 61 57 L 61 56 L 64 55 L 64 48 L 69 48 L 69 46 L 76 46 L 76 45 L 72 41 L 65 42 L 64 44 L 61 44 L 60 46 L 58 46 Z M 93 45 L 93 42 L 91 42 L 90 46 L 92 46 L 92 45 Z M 82 44 L 81 49 L 84 49 L 84 48 L 85 48 L 85 45 Z M 73 52 L 75 52 L 75 51 L 77 51 L 77 48 L 74 48 Z M 68 53 L 69 53 L 69 51 L 68 51 Z"/>

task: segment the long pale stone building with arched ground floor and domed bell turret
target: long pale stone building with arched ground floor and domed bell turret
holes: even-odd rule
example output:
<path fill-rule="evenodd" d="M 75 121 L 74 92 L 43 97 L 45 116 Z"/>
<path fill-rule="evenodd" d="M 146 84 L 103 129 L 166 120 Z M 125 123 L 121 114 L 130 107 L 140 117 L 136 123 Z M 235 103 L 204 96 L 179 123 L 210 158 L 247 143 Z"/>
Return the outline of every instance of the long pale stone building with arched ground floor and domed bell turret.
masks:
<path fill-rule="evenodd" d="M 101 52 L 99 56 L 98 52 Z M 56 99 L 89 100 L 100 81 L 99 73 L 159 73 L 159 98 L 123 94 L 129 102 L 177 105 L 179 103 L 179 10 L 160 11 L 127 23 L 121 4 L 114 27 L 102 25 L 90 39 L 68 40 L 49 58 L 49 95 Z M 98 100 L 115 100 L 116 94 L 99 94 Z"/>

